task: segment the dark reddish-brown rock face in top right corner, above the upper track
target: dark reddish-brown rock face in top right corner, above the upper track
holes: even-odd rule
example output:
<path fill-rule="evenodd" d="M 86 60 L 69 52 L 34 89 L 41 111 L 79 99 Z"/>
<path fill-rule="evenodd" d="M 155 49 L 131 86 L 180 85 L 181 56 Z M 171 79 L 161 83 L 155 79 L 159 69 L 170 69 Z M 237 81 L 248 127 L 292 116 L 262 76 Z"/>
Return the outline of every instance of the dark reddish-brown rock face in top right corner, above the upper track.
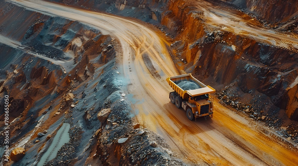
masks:
<path fill-rule="evenodd" d="M 272 22 L 285 21 L 298 11 L 297 0 L 246 0 L 246 6 L 254 14 Z"/>

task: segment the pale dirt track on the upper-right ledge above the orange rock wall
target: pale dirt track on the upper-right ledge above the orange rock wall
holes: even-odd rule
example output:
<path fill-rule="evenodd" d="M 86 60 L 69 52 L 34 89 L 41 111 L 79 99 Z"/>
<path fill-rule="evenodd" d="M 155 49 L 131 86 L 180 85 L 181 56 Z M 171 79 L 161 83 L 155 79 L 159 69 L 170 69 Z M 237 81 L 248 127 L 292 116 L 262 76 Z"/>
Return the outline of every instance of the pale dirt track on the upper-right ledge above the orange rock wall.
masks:
<path fill-rule="evenodd" d="M 224 6 L 215 7 L 214 4 L 207 1 L 191 0 L 187 3 L 197 7 L 198 11 L 202 11 L 198 17 L 204 19 L 209 25 L 214 25 L 224 31 L 247 36 L 263 43 L 298 51 L 298 35 L 295 33 L 274 31 L 238 10 L 232 10 Z"/>

